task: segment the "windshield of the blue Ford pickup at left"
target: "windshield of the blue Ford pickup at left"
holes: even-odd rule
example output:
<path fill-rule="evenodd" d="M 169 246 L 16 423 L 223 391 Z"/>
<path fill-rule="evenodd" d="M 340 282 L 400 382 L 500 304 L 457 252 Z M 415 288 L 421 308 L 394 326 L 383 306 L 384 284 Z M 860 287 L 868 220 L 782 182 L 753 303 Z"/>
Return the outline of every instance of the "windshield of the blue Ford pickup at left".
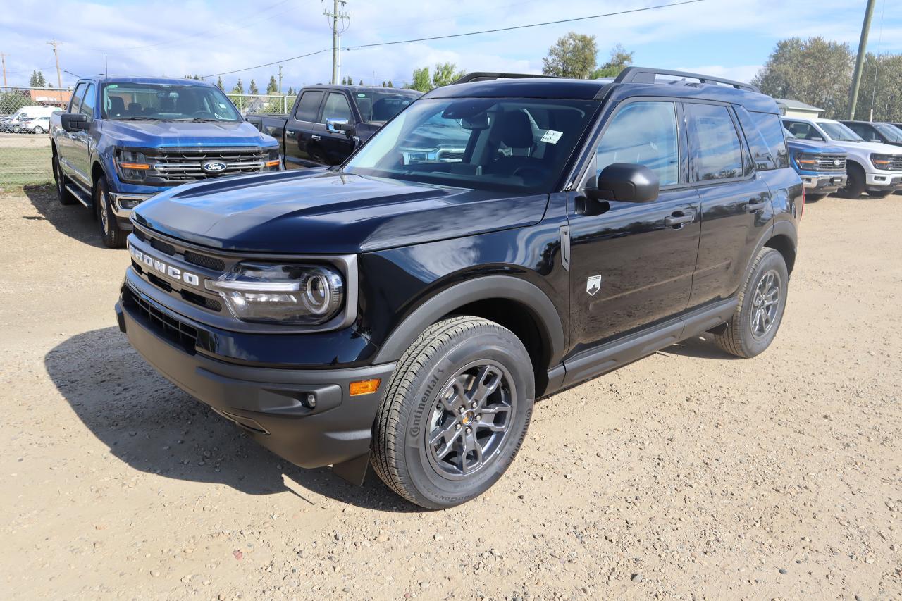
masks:
<path fill-rule="evenodd" d="M 112 83 L 104 86 L 105 119 L 241 121 L 219 88 L 191 84 Z"/>

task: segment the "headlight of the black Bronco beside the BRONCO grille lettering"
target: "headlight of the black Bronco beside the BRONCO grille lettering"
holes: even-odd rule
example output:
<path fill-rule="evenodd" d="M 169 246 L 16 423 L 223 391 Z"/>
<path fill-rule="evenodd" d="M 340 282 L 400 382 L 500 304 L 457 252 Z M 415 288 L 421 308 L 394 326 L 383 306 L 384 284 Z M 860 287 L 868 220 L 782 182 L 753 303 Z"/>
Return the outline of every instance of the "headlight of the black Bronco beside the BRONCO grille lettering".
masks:
<path fill-rule="evenodd" d="M 326 265 L 239 263 L 206 286 L 243 321 L 318 325 L 345 301 L 341 274 Z"/>

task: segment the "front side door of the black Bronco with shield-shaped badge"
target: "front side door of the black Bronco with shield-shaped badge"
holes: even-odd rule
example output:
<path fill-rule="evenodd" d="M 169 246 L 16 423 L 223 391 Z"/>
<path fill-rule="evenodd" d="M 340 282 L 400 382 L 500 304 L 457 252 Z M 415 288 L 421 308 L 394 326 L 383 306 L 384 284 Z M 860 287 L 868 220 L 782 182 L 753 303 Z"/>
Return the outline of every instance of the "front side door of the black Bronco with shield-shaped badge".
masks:
<path fill-rule="evenodd" d="M 570 202 L 571 347 L 593 347 L 686 309 L 698 254 L 700 206 L 686 181 L 686 140 L 676 102 L 618 107 L 597 144 L 587 183 L 614 162 L 658 175 L 648 203 L 607 201 L 580 210 Z"/>

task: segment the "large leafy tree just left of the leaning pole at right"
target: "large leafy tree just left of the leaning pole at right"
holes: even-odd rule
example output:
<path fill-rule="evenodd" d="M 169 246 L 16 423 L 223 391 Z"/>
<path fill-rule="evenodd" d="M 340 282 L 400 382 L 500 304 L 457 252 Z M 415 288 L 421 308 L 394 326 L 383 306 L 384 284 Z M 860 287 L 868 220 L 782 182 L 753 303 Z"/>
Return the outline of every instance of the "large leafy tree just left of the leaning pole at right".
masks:
<path fill-rule="evenodd" d="M 800 100 L 824 109 L 824 116 L 845 118 L 854 55 L 849 44 L 822 37 L 777 42 L 751 83 L 775 98 Z"/>

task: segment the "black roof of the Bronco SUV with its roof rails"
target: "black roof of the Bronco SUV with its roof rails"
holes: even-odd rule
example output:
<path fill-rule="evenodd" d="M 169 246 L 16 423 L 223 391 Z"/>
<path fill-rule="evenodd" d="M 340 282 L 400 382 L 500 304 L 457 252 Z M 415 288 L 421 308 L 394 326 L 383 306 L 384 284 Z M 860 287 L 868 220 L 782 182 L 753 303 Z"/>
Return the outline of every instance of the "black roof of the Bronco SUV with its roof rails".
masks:
<path fill-rule="evenodd" d="M 541 76 L 474 73 L 456 83 L 427 92 L 424 98 L 446 97 L 520 97 L 572 100 L 621 100 L 626 97 L 677 97 L 715 100 L 744 106 L 762 113 L 779 113 L 773 98 L 758 88 L 731 79 L 712 78 L 696 73 L 629 67 L 617 79 L 561 79 Z M 664 76 L 665 79 L 656 79 Z M 511 78 L 511 79 L 507 79 Z"/>

